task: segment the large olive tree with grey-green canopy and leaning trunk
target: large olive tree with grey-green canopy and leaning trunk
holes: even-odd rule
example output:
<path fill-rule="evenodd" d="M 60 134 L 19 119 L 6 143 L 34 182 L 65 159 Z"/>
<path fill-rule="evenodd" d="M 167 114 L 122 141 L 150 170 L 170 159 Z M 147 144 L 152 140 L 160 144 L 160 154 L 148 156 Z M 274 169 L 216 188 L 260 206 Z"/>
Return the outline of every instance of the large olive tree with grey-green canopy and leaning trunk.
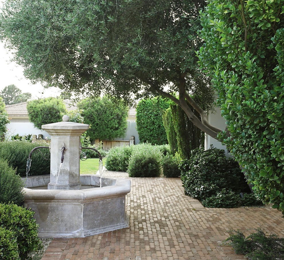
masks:
<path fill-rule="evenodd" d="M 217 138 L 221 130 L 206 114 L 213 90 L 194 53 L 202 43 L 197 30 L 204 6 L 205 0 L 9 0 L 0 39 L 34 82 L 124 100 L 164 95 Z"/>

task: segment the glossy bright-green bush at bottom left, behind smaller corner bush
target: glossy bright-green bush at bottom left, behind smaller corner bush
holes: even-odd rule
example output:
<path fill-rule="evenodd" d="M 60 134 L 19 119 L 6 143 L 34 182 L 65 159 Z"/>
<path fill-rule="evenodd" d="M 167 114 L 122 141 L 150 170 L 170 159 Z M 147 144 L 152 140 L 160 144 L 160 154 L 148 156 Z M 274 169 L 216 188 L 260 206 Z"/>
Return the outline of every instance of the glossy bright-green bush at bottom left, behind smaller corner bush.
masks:
<path fill-rule="evenodd" d="M 0 227 L 10 230 L 17 240 L 21 260 L 28 259 L 30 252 L 40 249 L 34 212 L 11 203 L 0 204 L 0 216 Z"/>

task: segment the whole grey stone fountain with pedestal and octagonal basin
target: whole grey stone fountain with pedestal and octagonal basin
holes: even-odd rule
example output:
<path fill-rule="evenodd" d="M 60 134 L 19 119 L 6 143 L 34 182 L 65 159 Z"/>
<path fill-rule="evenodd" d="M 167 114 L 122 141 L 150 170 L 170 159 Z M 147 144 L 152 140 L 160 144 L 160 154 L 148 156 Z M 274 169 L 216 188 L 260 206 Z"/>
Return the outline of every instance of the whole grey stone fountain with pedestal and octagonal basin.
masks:
<path fill-rule="evenodd" d="M 42 125 L 51 136 L 50 177 L 25 180 L 24 206 L 35 212 L 38 235 L 86 237 L 128 227 L 125 196 L 130 180 L 80 175 L 80 136 L 89 125 L 63 120 Z"/>

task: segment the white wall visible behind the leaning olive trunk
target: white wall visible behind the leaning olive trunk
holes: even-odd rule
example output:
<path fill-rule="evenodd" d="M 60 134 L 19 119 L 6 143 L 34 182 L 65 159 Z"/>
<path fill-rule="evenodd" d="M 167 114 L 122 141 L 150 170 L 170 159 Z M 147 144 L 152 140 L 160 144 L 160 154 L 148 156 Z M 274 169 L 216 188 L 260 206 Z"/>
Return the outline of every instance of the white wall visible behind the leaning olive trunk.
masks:
<path fill-rule="evenodd" d="M 221 110 L 220 108 L 216 108 L 216 113 L 210 113 L 208 115 L 208 123 L 210 125 L 213 125 L 215 127 L 218 127 L 221 130 L 224 130 L 226 127 L 225 120 L 223 117 L 221 117 Z M 205 150 L 208 150 L 210 148 L 210 145 L 213 145 L 213 147 L 218 148 L 218 149 L 223 149 L 225 150 L 225 154 L 228 156 L 229 153 L 226 149 L 225 145 L 222 145 L 221 142 L 217 141 L 215 138 L 211 137 L 210 135 L 205 134 Z"/>

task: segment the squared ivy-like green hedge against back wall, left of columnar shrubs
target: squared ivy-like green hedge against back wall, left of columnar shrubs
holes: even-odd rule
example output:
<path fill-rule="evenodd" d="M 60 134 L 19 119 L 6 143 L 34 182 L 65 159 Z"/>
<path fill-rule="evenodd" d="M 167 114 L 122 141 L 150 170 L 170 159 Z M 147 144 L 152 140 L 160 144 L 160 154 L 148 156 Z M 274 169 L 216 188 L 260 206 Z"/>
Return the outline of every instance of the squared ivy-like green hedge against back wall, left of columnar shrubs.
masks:
<path fill-rule="evenodd" d="M 163 113 L 170 101 L 162 98 L 141 100 L 136 108 L 136 128 L 140 142 L 162 145 L 168 143 Z"/>

